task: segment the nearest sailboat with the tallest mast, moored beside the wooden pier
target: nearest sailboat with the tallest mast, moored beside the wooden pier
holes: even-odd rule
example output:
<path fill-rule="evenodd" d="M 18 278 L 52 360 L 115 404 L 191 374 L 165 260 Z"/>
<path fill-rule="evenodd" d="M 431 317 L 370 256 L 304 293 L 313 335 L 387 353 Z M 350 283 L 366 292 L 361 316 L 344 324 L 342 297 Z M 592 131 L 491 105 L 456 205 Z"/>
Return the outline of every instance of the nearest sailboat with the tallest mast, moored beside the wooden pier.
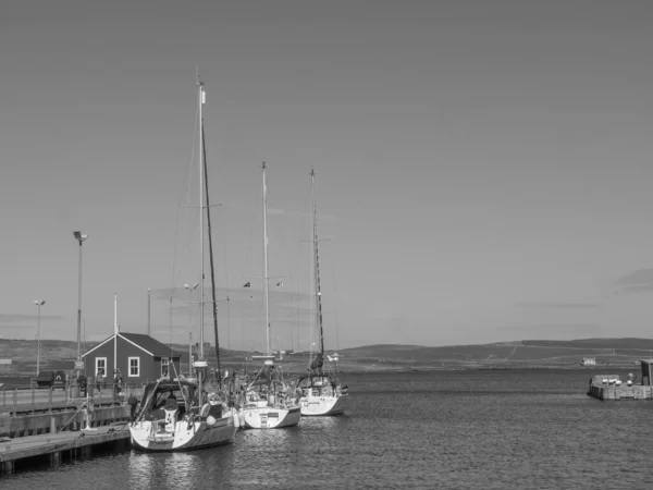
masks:
<path fill-rule="evenodd" d="M 200 210 L 200 290 L 199 353 L 193 363 L 197 380 L 178 376 L 160 379 L 146 385 L 136 420 L 130 424 L 132 444 L 147 451 L 187 451 L 234 441 L 237 414 L 224 403 L 210 402 L 205 392 L 208 363 L 204 354 L 204 210 L 207 209 L 202 175 L 206 173 L 204 152 L 202 105 L 204 84 L 197 81 L 199 106 L 199 210 Z M 170 365 L 174 368 L 174 364 Z"/>

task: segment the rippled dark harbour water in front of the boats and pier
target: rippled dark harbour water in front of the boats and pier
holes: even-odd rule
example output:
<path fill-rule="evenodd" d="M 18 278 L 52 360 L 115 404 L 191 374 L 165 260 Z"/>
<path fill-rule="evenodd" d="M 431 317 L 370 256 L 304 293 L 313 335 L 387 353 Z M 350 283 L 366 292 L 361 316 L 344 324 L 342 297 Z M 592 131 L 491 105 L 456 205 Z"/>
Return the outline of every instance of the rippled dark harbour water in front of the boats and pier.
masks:
<path fill-rule="evenodd" d="M 649 488 L 653 402 L 590 399 L 602 372 L 349 375 L 342 417 L 238 431 L 232 445 L 192 453 L 21 471 L 0 488 Z"/>

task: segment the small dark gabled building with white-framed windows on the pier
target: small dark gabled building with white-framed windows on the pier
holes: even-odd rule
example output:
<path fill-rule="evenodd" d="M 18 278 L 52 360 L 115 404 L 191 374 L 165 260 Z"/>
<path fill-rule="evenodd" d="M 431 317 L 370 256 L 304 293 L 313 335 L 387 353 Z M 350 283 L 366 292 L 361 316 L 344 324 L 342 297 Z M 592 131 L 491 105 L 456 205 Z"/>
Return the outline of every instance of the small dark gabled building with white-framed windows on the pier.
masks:
<path fill-rule="evenodd" d="M 114 354 L 115 347 L 115 354 Z M 98 369 L 104 371 L 104 382 L 111 383 L 114 366 L 120 369 L 124 383 L 153 381 L 170 373 L 180 372 L 182 353 L 143 333 L 118 332 L 82 355 L 87 377 L 96 377 Z M 174 363 L 174 368 L 170 365 Z"/>

